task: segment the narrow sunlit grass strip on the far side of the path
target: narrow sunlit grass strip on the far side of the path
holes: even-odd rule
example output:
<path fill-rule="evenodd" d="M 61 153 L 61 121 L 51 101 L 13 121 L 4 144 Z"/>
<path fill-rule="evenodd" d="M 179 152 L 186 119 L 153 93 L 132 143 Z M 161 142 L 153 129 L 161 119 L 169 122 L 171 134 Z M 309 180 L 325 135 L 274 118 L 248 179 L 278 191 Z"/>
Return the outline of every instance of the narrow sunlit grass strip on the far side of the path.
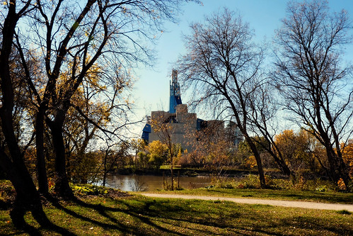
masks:
<path fill-rule="evenodd" d="M 154 193 L 170 193 L 170 191 L 153 191 Z M 321 203 L 353 204 L 353 193 L 295 191 L 274 189 L 184 189 L 177 194 L 199 196 L 222 196 L 233 198 L 267 198 L 290 201 L 315 201 Z"/>

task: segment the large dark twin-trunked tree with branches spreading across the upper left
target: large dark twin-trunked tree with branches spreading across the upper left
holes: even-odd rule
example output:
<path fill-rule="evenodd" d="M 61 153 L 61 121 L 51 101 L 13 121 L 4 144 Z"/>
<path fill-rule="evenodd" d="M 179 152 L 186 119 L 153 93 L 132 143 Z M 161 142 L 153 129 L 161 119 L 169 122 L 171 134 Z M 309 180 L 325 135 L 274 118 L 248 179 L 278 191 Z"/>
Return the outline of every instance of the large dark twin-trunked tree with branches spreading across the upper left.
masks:
<path fill-rule="evenodd" d="M 18 49 L 39 55 L 44 77 L 27 73 L 37 106 L 35 130 L 40 189 L 45 192 L 42 154 L 44 122 L 50 128 L 56 172 L 56 191 L 71 197 L 66 176 L 64 123 L 72 98 L 93 67 L 104 64 L 100 81 L 110 88 L 131 76 L 137 63 L 151 64 L 153 55 L 143 40 L 153 41 L 164 20 L 174 20 L 182 1 L 36 1 L 25 30 L 18 31 Z M 172 13 L 173 12 L 173 13 Z M 28 35 L 25 35 L 28 33 Z M 28 43 L 30 41 L 30 43 Z M 23 53 L 25 55 L 25 53 Z M 23 64 L 26 58 L 23 57 Z M 61 79 L 65 79 L 60 83 Z M 59 86 L 62 84 L 63 86 Z M 107 93 L 115 91 L 107 86 Z M 41 171 L 42 170 L 42 171 Z"/>

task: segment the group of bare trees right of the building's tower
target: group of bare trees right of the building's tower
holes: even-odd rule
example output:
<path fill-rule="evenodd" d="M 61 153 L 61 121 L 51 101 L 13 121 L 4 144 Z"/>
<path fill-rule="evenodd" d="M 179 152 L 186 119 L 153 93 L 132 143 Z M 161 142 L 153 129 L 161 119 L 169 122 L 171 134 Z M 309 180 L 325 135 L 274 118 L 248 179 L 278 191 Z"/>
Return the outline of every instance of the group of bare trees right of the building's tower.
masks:
<path fill-rule="evenodd" d="M 270 60 L 268 45 L 255 43 L 248 23 L 229 9 L 190 25 L 187 52 L 178 65 L 184 86 L 192 91 L 191 104 L 212 106 L 214 116 L 236 124 L 262 187 L 267 164 L 262 150 L 293 178 L 296 165 L 304 163 L 289 158 L 295 155 L 289 153 L 294 142 L 284 148 L 277 141 L 286 120 L 305 130 L 325 152 L 325 157 L 316 154 L 312 168 L 318 162 L 333 184 L 343 182 L 352 189 L 352 162 L 344 157 L 353 132 L 352 65 L 342 57 L 345 46 L 352 44 L 351 28 L 347 11 L 332 13 L 327 1 L 289 2 Z"/>

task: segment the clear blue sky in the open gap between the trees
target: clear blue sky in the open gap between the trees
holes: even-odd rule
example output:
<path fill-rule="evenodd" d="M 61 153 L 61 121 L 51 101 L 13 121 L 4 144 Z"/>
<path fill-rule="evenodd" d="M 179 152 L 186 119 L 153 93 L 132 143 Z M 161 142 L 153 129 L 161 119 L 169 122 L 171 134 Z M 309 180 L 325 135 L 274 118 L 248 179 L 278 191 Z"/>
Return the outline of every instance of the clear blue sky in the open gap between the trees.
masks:
<path fill-rule="evenodd" d="M 190 34 L 190 23 L 202 23 L 204 16 L 227 7 L 231 11 L 240 13 L 243 21 L 249 23 L 255 30 L 255 41 L 266 40 L 271 43 L 274 30 L 282 26 L 281 19 L 286 16 L 287 0 L 201 0 L 202 4 L 187 2 L 178 15 L 178 23 L 166 23 L 165 30 L 155 46 L 157 60 L 154 67 L 136 69 L 137 82 L 132 91 L 134 112 L 137 119 L 150 115 L 151 111 L 168 111 L 169 109 L 169 81 L 173 64 L 185 52 L 183 35 Z M 353 20 L 352 0 L 330 0 L 330 10 L 341 11 L 345 9 Z M 353 50 L 353 47 L 352 47 Z M 352 50 L 347 51 L 347 60 L 353 56 Z M 350 55 L 349 55 L 349 52 Z M 185 88 L 180 84 L 183 103 L 187 103 Z M 199 116 L 198 116 L 199 117 Z M 203 117 L 199 117 L 203 118 Z M 144 124 L 134 129 L 137 135 L 141 133 Z"/>

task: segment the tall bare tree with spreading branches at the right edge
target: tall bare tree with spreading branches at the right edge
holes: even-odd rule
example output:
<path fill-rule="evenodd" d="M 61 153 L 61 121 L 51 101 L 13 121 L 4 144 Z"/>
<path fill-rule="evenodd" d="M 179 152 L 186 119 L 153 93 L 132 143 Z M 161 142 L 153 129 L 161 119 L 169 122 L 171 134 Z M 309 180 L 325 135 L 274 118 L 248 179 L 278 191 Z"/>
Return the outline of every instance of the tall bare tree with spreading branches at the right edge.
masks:
<path fill-rule="evenodd" d="M 327 1 L 291 2 L 277 30 L 277 70 L 272 78 L 296 123 L 325 146 L 330 179 L 352 180 L 340 142 L 352 134 L 352 67 L 342 60 L 342 46 L 352 42 L 347 12 L 330 13 Z"/>

